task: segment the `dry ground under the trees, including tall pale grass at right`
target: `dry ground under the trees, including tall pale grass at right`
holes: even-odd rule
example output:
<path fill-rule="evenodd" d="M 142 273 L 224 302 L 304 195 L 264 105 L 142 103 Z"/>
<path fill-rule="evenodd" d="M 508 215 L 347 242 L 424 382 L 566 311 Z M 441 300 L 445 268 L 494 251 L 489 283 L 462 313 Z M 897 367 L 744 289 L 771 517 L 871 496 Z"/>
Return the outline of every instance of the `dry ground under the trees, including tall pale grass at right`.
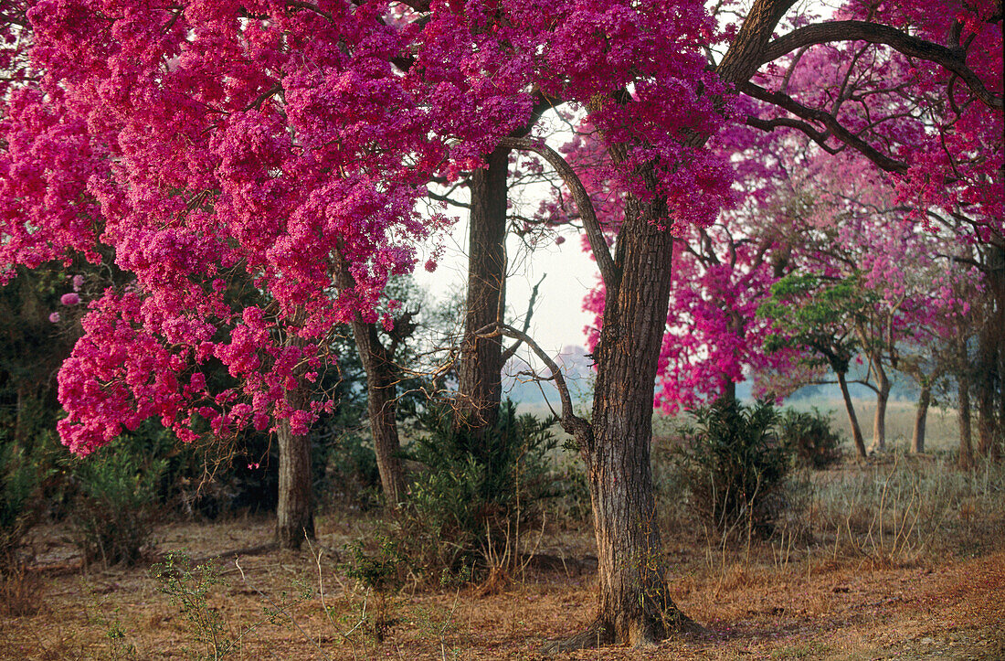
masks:
<path fill-rule="evenodd" d="M 708 633 L 559 658 L 1005 658 L 1003 486 L 1000 466 L 964 474 L 931 460 L 846 464 L 811 477 L 774 538 L 724 545 L 664 484 L 671 596 Z M 587 522 L 549 526 L 529 545 L 526 569 L 490 589 L 410 582 L 383 595 L 343 568 L 345 544 L 372 528 L 329 514 L 313 549 L 280 552 L 263 546 L 268 519 L 162 525 L 150 560 L 184 550 L 218 572 L 219 585 L 186 612 L 159 591 L 166 584 L 150 561 L 82 569 L 65 530 L 43 526 L 34 564 L 5 585 L 7 608 L 22 614 L 2 620 L 0 657 L 531 659 L 546 640 L 588 624 Z M 195 577 L 179 585 L 193 589 Z M 235 642 L 225 649 L 224 639 Z"/>

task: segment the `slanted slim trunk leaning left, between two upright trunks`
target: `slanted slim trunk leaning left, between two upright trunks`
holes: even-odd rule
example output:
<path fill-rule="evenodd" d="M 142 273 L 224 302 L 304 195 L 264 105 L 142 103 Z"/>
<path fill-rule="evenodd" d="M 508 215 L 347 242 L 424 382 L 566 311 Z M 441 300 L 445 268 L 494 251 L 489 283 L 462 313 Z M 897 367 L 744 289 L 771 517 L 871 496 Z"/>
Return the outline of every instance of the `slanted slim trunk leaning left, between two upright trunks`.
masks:
<path fill-rule="evenodd" d="M 384 502 L 392 509 L 404 499 L 405 473 L 398 440 L 396 387 L 398 372 L 377 335 L 377 327 L 361 320 L 352 324 L 356 347 L 367 374 L 367 412 L 374 440 Z"/>

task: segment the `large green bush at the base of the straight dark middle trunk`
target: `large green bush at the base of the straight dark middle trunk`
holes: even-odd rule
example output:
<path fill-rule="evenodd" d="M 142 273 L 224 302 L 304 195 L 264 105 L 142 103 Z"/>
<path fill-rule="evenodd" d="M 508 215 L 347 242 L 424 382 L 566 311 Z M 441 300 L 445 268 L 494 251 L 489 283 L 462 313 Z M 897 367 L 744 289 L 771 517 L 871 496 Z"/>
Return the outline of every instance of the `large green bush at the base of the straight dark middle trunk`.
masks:
<path fill-rule="evenodd" d="M 421 465 L 403 507 L 404 540 L 426 568 L 458 570 L 477 558 L 513 557 L 522 530 L 559 495 L 548 454 L 557 447 L 554 420 L 517 415 L 505 401 L 499 421 L 481 438 L 454 423 L 449 405 L 421 417 L 426 434 L 408 459 Z"/>

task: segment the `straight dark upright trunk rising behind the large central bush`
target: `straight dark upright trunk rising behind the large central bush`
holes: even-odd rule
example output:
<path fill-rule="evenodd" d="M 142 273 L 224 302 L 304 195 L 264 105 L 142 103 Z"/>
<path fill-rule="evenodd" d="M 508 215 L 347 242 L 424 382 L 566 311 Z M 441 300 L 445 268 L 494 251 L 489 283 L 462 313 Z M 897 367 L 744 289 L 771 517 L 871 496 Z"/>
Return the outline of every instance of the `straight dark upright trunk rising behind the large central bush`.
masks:
<path fill-rule="evenodd" d="M 501 338 L 477 338 L 485 326 L 501 321 L 506 310 L 507 171 L 510 150 L 496 148 L 487 167 L 471 175 L 468 237 L 467 310 L 458 377 L 458 422 L 475 430 L 498 421 L 502 398 Z"/>

